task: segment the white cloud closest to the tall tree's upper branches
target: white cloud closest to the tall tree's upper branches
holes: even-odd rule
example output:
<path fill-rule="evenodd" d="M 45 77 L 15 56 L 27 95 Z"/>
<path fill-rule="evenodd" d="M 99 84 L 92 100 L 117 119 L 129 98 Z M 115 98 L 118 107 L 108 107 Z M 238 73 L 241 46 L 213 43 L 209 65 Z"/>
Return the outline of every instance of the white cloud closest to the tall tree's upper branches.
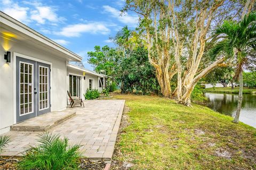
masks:
<path fill-rule="evenodd" d="M 127 24 L 130 27 L 136 27 L 138 24 L 139 18 L 137 15 L 129 15 L 127 13 L 124 13 L 121 16 L 121 12 L 114 7 L 104 5 L 103 8 L 105 13 L 109 13 L 113 18 L 118 19 L 118 21 Z"/>

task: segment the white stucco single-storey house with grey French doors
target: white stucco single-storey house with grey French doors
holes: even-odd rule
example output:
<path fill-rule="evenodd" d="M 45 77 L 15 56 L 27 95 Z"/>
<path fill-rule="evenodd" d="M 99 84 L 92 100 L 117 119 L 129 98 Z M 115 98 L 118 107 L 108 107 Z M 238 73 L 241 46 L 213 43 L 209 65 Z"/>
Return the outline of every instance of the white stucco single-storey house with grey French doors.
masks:
<path fill-rule="evenodd" d="M 0 11 L 0 134 L 105 86 L 102 74 L 68 62 L 82 57 Z"/>

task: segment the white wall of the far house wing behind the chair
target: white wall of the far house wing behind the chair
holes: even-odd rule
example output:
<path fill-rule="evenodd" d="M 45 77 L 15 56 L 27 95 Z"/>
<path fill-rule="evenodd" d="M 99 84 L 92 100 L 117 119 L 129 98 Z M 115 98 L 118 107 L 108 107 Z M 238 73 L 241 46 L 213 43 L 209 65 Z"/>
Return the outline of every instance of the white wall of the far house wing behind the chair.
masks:
<path fill-rule="evenodd" d="M 85 73 L 85 80 L 83 76 L 83 71 L 74 70 L 67 67 L 67 90 L 69 90 L 69 75 L 76 75 L 81 77 L 81 97 L 84 99 L 84 94 L 86 90 L 89 89 L 89 79 L 93 79 L 92 88 L 98 89 L 99 92 L 102 92 L 102 88 L 99 87 L 99 77 L 90 73 Z M 67 96 L 68 97 L 68 96 Z"/>

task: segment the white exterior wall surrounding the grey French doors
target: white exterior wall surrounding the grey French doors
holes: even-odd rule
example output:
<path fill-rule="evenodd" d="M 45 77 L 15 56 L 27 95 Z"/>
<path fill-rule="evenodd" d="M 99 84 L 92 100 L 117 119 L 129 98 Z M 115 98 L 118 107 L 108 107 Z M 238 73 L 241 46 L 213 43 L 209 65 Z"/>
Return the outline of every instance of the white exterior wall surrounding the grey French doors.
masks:
<path fill-rule="evenodd" d="M 43 47 L 36 50 L 14 42 L 8 51 L 11 52 L 11 63 L 6 64 L 6 60 L 4 60 L 5 50 L 0 46 L 0 134 L 9 130 L 8 127 L 15 124 L 16 121 L 15 58 L 13 58 L 13 52 L 51 63 L 51 111 L 60 111 L 66 108 L 67 91 L 66 86 L 63 86 L 66 82 L 65 59 L 47 53 Z"/>

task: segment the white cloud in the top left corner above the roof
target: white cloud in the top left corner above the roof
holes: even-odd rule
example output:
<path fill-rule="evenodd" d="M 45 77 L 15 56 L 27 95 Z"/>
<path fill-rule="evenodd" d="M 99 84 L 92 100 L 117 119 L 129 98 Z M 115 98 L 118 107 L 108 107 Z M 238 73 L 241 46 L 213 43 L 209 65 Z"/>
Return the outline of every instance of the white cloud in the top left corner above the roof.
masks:
<path fill-rule="evenodd" d="M 28 7 L 21 7 L 19 6 L 18 3 L 13 3 L 12 1 L 9 0 L 3 0 L 0 2 L 0 10 L 6 13 L 7 15 L 12 16 L 12 18 L 23 22 L 23 23 L 28 23 Z"/>

